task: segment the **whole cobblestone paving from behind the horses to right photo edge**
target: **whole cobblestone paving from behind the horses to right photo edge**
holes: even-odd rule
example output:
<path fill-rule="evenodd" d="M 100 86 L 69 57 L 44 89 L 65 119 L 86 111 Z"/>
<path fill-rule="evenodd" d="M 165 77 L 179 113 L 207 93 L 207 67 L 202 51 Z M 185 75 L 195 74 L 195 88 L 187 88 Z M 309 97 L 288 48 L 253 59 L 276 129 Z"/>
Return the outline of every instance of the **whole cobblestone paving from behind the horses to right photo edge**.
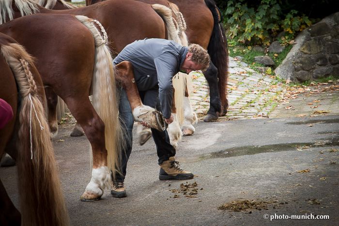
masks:
<path fill-rule="evenodd" d="M 339 115 L 338 81 L 303 87 L 300 92 L 296 88 L 291 95 L 274 76 L 260 74 L 247 63 L 231 57 L 229 73 L 227 98 L 230 106 L 227 115 L 219 120 Z M 202 120 L 209 109 L 208 85 L 202 74 L 194 73 L 192 77 L 191 104 Z M 286 95 L 292 98 L 284 98 Z"/>

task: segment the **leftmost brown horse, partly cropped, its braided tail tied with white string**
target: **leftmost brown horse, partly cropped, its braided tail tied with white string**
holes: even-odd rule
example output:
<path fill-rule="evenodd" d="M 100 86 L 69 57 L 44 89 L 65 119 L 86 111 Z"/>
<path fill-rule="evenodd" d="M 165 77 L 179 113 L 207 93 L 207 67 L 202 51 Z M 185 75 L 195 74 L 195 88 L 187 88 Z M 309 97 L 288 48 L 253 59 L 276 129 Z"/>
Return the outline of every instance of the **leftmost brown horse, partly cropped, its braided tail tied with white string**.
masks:
<path fill-rule="evenodd" d="M 0 156 L 16 161 L 20 212 L 0 181 L 1 225 L 70 225 L 43 100 L 42 80 L 31 56 L 14 39 L 0 33 L 0 98 L 14 117 L 0 129 Z"/>

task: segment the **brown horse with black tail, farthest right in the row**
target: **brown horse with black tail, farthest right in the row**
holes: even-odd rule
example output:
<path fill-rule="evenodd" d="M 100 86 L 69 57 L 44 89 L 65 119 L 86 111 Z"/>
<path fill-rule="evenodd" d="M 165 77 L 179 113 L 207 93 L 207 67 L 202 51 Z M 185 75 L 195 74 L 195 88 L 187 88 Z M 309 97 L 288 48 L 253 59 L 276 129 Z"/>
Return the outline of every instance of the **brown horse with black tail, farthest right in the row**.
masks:
<path fill-rule="evenodd" d="M 92 5 L 106 0 L 86 0 L 86 5 Z M 109 1 L 109 0 L 108 0 Z M 177 20 L 181 15 L 176 12 L 176 6 L 184 15 L 185 30 L 189 43 L 199 44 L 207 49 L 211 64 L 203 74 L 210 87 L 210 109 L 204 121 L 215 121 L 218 116 L 226 115 L 228 101 L 226 96 L 228 76 L 228 48 L 225 31 L 220 24 L 219 12 L 214 0 L 139 0 L 148 4 L 162 4 L 173 10 Z"/>

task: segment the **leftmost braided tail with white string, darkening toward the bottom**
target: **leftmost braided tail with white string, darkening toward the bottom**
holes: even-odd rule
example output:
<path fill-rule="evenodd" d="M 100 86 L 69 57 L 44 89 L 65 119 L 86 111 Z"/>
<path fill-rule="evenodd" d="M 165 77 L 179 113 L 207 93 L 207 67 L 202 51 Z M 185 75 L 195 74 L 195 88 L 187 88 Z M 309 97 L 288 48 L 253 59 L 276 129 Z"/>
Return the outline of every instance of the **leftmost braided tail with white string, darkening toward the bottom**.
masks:
<path fill-rule="evenodd" d="M 2 45 L 1 53 L 21 98 L 16 164 L 22 225 L 70 225 L 45 109 L 29 68 L 31 56 L 18 44 Z"/>

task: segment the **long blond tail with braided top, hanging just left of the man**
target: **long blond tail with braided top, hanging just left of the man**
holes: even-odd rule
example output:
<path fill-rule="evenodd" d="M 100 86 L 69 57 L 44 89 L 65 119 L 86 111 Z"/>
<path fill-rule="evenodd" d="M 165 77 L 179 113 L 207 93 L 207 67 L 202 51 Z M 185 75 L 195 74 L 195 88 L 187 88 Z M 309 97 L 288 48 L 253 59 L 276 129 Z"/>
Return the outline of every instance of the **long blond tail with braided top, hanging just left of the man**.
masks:
<path fill-rule="evenodd" d="M 77 15 L 75 17 L 91 30 L 93 34 L 95 42 L 95 62 L 92 76 L 92 104 L 101 120 L 105 123 L 108 169 L 115 172 L 120 168 L 119 156 L 123 140 L 122 127 L 118 118 L 119 98 L 117 97 L 112 58 L 107 47 L 107 33 L 98 21 L 83 15 Z M 99 30 L 97 30 L 94 24 L 100 27 L 104 38 L 100 35 Z M 113 173 L 113 175 L 115 175 L 115 173 Z M 105 181 L 105 185 L 108 186 L 109 183 L 110 181 Z"/>

